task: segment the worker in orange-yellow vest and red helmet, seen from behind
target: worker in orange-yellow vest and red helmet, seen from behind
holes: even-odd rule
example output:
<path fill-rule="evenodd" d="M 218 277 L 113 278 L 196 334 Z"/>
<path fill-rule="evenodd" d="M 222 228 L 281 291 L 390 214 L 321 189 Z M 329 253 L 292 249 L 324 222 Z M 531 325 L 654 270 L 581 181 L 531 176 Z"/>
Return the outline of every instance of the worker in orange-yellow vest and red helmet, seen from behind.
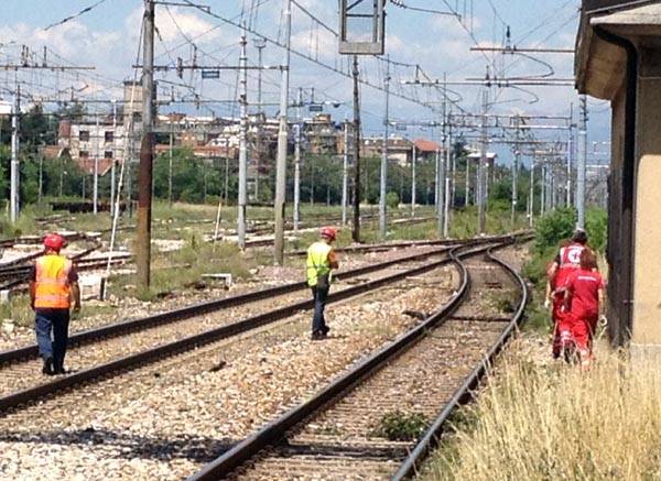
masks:
<path fill-rule="evenodd" d="M 42 372 L 65 374 L 64 356 L 68 342 L 69 309 L 80 310 L 78 274 L 71 260 L 59 254 L 64 238 L 57 233 L 44 238 L 44 255 L 39 258 L 30 277 L 30 302 L 34 310 L 34 331 Z"/>

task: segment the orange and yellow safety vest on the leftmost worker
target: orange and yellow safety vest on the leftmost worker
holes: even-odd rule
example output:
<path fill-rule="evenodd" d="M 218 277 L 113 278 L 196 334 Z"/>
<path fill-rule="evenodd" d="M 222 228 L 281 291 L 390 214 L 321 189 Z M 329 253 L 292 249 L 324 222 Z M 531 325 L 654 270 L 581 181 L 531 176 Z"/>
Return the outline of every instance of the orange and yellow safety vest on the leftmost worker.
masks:
<path fill-rule="evenodd" d="M 36 260 L 35 308 L 68 309 L 71 307 L 72 288 L 68 276 L 72 265 L 72 261 L 57 254 L 46 254 Z"/>

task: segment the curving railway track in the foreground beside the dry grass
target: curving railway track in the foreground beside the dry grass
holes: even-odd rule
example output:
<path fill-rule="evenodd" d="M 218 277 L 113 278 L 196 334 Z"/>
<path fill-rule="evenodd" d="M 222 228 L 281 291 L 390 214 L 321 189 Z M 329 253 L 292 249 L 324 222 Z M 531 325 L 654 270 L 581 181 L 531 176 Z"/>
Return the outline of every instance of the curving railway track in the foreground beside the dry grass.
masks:
<path fill-rule="evenodd" d="M 502 244 L 501 244 L 502 245 Z M 465 261 L 488 251 L 488 260 Z M 525 285 L 490 249 L 456 253 L 457 294 L 424 323 L 336 379 L 312 398 L 235 445 L 192 480 L 403 479 L 420 466 L 449 413 L 470 397 L 520 321 Z M 519 292 L 514 314 L 485 303 L 485 292 Z M 416 440 L 380 430 L 388 416 L 414 414 L 426 433 Z"/>

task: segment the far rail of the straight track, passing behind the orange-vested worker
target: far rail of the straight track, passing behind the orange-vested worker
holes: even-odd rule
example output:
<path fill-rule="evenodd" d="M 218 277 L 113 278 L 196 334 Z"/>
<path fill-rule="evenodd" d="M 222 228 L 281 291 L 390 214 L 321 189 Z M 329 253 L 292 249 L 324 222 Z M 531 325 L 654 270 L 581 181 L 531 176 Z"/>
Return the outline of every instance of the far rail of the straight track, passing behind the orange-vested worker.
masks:
<path fill-rule="evenodd" d="M 440 255 L 447 252 L 448 249 L 438 249 L 433 252 L 419 253 L 413 255 L 408 255 L 405 258 L 399 258 L 390 261 L 380 262 L 377 264 L 370 264 L 364 267 L 354 269 L 350 271 L 338 272 L 335 274 L 335 278 L 337 280 L 347 280 L 351 277 L 356 277 L 358 275 L 369 274 L 376 271 L 380 271 L 392 265 L 405 263 L 405 262 L 415 262 L 423 259 L 427 259 L 432 255 Z M 178 309 L 170 310 L 166 313 L 154 314 L 147 317 L 141 317 L 139 319 L 131 319 L 121 323 L 110 324 L 107 326 L 102 326 L 99 328 L 87 329 L 80 332 L 76 332 L 69 336 L 68 346 L 80 346 L 90 343 L 93 341 L 98 341 L 102 339 L 108 339 L 112 337 L 122 336 L 129 332 L 140 331 L 150 329 L 155 326 L 161 326 L 165 324 L 172 324 L 180 320 L 188 319 L 195 316 L 201 316 L 208 313 L 215 313 L 220 309 L 225 309 L 228 307 L 236 307 L 243 304 L 253 303 L 257 300 L 268 299 L 274 296 L 281 296 L 285 294 L 290 294 L 296 291 L 302 291 L 307 287 L 307 283 L 305 281 L 295 282 L 291 284 L 285 284 L 277 287 L 268 287 L 266 289 L 253 291 L 247 294 L 239 294 L 236 296 L 224 297 L 221 299 L 208 300 L 204 303 L 193 304 L 191 306 L 181 307 Z M 39 347 L 36 343 L 25 346 L 23 348 L 12 349 L 0 352 L 0 365 L 15 362 L 23 359 L 34 359 L 39 356 Z"/>

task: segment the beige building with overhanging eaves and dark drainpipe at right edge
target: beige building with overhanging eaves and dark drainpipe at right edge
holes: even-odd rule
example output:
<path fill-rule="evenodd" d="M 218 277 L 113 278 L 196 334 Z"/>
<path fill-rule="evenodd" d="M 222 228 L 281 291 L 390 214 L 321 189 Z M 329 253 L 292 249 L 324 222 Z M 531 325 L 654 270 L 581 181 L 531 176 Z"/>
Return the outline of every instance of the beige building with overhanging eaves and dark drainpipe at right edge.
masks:
<path fill-rule="evenodd" d="M 661 352 L 661 4 L 584 0 L 575 70 L 613 109 L 609 335 Z"/>

